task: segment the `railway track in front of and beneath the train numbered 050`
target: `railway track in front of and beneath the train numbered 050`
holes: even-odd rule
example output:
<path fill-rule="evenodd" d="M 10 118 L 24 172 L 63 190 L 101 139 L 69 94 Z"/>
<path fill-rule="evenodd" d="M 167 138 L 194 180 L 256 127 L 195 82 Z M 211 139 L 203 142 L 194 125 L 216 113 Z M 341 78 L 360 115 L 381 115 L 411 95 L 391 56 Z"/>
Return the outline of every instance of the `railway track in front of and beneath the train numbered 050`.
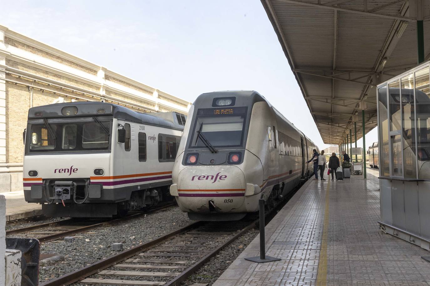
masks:
<path fill-rule="evenodd" d="M 266 212 L 276 214 L 283 202 Z M 70 285 L 178 286 L 224 247 L 254 228 L 258 219 L 232 227 L 226 222 L 195 222 L 146 243 L 41 283 Z"/>

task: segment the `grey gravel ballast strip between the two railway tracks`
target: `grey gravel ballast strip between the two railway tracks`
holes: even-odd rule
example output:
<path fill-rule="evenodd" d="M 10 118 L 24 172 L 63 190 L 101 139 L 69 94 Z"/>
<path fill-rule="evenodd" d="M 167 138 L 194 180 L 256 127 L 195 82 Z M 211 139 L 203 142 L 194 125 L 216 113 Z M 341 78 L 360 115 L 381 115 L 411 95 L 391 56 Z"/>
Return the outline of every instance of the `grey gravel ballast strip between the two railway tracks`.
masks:
<path fill-rule="evenodd" d="M 41 266 L 39 280 L 40 282 L 51 280 L 114 255 L 117 251 L 111 249 L 113 243 L 122 242 L 126 250 L 192 222 L 186 213 L 178 207 L 172 207 L 74 235 L 73 243 L 64 240 L 43 243 L 40 246 L 40 253 L 61 254 L 64 255 L 64 260 L 53 265 Z"/>

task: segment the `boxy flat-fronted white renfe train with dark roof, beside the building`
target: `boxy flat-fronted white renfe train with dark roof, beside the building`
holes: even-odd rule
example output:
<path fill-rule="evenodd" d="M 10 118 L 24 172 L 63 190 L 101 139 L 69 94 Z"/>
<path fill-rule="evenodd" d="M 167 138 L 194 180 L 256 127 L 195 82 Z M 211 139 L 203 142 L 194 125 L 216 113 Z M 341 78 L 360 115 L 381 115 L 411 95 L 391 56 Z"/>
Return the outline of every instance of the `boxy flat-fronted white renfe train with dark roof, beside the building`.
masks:
<path fill-rule="evenodd" d="M 169 199 L 185 120 L 104 102 L 30 108 L 25 200 L 50 217 L 112 217 Z"/>

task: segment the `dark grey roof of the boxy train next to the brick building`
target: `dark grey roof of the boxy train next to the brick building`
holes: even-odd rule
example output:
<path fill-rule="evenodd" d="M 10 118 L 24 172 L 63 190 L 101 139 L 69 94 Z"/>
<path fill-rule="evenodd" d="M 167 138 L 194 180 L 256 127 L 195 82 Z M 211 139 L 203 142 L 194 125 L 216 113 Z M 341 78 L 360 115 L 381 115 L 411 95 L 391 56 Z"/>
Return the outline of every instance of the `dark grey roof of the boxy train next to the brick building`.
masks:
<path fill-rule="evenodd" d="M 63 115 L 61 112 L 62 108 L 70 106 L 75 106 L 77 108 L 77 114 L 72 116 Z M 104 109 L 104 113 L 97 113 L 97 111 L 101 109 Z M 42 114 L 39 115 L 39 112 Z M 37 113 L 39 116 L 36 116 Z M 166 119 L 169 117 L 166 116 L 167 113 L 169 112 L 154 112 L 154 114 L 141 113 L 126 108 L 125 106 L 107 102 L 64 102 L 32 107 L 28 110 L 28 119 L 112 116 L 117 119 L 136 123 L 183 130 L 186 116 L 175 112 L 176 116 L 172 114 L 172 120 L 169 120 Z"/>

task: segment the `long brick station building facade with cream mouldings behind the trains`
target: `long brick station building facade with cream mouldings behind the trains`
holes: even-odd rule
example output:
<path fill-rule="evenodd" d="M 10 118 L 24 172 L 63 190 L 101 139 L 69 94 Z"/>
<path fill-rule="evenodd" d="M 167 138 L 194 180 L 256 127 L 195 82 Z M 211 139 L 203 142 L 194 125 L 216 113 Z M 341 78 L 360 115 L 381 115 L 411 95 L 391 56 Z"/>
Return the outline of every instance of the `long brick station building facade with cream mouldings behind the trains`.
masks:
<path fill-rule="evenodd" d="M 0 26 L 0 193 L 22 190 L 28 109 L 104 101 L 187 114 L 191 103 Z"/>

